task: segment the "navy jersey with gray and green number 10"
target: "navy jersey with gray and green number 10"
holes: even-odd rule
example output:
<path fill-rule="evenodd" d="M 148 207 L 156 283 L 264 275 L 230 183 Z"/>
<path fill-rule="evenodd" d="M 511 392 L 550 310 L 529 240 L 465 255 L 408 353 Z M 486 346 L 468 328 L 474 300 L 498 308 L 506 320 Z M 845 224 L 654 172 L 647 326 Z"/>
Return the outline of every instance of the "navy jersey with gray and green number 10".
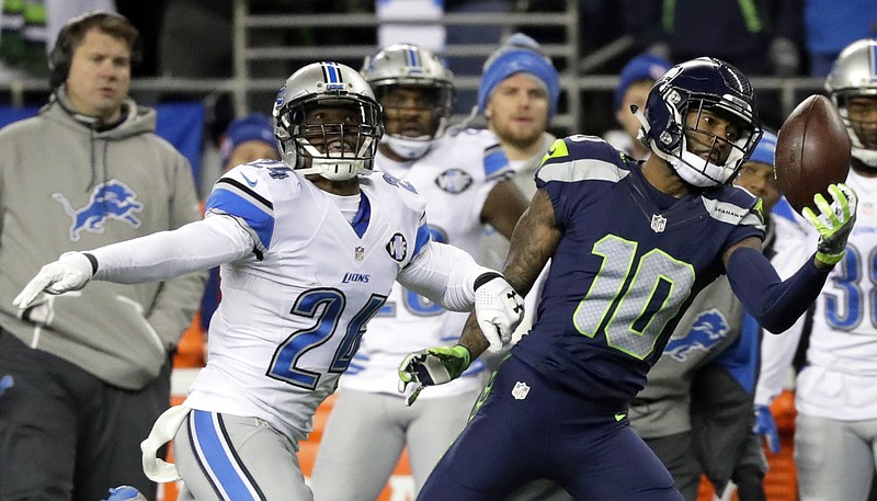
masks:
<path fill-rule="evenodd" d="M 758 198 L 718 186 L 682 198 L 597 137 L 557 140 L 536 174 L 561 238 L 537 319 L 514 348 L 593 403 L 623 409 L 642 389 L 694 296 L 725 272 L 721 255 L 764 238 Z"/>

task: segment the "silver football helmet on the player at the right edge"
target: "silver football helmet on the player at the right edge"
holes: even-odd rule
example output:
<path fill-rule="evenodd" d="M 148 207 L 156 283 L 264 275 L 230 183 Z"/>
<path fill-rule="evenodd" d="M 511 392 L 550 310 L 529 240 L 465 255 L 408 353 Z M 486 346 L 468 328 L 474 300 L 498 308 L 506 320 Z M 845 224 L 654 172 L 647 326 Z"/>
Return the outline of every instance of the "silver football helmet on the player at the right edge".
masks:
<path fill-rule="evenodd" d="M 825 79 L 825 90 L 841 112 L 853 157 L 877 168 L 877 118 L 851 119 L 850 101 L 869 96 L 877 100 L 877 39 L 864 38 L 844 48 Z M 872 106 L 877 104 L 872 104 Z"/>

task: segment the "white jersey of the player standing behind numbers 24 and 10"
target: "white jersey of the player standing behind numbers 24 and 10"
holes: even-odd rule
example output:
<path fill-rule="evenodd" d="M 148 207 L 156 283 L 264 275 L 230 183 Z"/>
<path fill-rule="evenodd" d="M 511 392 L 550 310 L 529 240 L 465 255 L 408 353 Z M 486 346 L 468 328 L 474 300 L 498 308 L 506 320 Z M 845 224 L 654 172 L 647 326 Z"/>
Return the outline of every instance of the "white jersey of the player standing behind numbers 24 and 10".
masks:
<path fill-rule="evenodd" d="M 481 244 L 481 209 L 488 194 L 511 171 L 505 153 L 489 130 L 465 129 L 436 140 L 420 159 L 396 162 L 378 153 L 375 169 L 410 182 L 426 200 L 433 240 L 471 254 Z M 429 299 L 394 285 L 387 304 L 368 323 L 360 351 L 341 378 L 341 388 L 399 395 L 399 362 L 408 353 L 453 344 L 468 314 L 447 311 Z M 459 379 L 423 391 L 420 399 L 447 397 L 483 385 L 481 360 Z"/>

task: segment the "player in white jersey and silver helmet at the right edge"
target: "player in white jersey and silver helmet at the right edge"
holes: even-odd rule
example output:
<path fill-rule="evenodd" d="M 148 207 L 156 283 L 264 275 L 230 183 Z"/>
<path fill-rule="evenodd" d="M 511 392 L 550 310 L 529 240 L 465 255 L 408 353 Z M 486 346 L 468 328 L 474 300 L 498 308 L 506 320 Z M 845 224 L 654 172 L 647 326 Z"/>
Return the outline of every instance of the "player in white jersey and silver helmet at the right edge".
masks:
<path fill-rule="evenodd" d="M 862 209 L 847 252 L 816 301 L 795 391 L 795 464 L 802 501 L 861 501 L 877 463 L 877 41 L 848 45 L 825 89 L 853 144 L 846 184 L 859 194 Z M 786 373 L 799 337 L 765 338 L 756 402 L 770 402 L 782 389 L 784 378 L 776 376 Z"/>

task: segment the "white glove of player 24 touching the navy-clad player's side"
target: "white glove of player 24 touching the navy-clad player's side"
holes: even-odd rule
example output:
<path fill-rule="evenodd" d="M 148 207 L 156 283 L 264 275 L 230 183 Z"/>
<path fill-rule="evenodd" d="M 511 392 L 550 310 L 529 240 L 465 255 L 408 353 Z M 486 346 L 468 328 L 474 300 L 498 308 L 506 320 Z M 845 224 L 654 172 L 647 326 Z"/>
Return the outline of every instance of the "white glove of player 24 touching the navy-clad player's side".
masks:
<path fill-rule="evenodd" d="M 487 282 L 482 281 L 487 278 Z M 524 301 L 499 273 L 485 273 L 475 281 L 475 316 L 491 351 L 498 351 L 512 340 L 524 319 Z"/>

